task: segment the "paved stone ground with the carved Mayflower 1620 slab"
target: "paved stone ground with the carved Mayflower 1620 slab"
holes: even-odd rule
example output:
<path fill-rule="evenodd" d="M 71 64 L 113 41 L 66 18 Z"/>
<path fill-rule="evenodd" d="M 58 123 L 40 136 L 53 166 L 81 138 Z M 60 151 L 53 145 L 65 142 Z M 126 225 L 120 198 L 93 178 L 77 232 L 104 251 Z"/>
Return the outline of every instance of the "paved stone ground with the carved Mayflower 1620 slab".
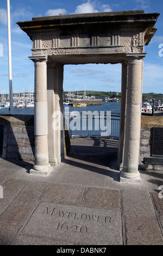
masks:
<path fill-rule="evenodd" d="M 73 138 L 47 177 L 29 174 L 31 162 L 0 159 L 0 245 L 163 245 L 162 171 L 121 183 L 117 147 Z"/>

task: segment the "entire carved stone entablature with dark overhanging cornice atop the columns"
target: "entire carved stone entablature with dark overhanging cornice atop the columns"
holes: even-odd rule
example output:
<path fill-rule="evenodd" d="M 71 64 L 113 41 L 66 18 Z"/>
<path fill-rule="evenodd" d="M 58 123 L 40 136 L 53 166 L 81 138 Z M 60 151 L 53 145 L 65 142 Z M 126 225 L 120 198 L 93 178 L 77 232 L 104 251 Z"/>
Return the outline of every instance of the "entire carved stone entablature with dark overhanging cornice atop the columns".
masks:
<path fill-rule="evenodd" d="M 143 53 L 159 14 L 120 11 L 36 17 L 17 22 L 32 40 L 33 56 Z"/>

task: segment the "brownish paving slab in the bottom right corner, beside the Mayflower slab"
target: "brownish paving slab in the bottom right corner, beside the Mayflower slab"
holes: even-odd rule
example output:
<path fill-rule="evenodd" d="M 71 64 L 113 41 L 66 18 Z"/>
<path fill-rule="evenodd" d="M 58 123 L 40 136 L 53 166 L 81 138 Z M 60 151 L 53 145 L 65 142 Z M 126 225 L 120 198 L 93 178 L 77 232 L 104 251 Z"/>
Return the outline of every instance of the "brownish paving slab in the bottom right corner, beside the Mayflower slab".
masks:
<path fill-rule="evenodd" d="M 125 217 L 126 245 L 163 245 L 158 222 L 148 217 Z"/>

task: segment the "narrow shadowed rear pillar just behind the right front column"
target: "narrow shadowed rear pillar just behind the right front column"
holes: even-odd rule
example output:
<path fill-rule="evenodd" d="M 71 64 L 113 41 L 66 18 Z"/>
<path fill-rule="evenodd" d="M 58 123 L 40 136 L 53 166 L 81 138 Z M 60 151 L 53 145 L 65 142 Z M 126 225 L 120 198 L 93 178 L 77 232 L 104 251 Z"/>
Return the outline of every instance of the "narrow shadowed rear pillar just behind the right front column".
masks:
<path fill-rule="evenodd" d="M 126 124 L 126 101 L 127 101 L 127 77 L 128 66 L 122 62 L 122 81 L 121 81 L 121 117 L 120 117 L 120 138 L 118 147 L 118 168 L 123 167 L 123 149 L 124 149 L 124 132 Z"/>

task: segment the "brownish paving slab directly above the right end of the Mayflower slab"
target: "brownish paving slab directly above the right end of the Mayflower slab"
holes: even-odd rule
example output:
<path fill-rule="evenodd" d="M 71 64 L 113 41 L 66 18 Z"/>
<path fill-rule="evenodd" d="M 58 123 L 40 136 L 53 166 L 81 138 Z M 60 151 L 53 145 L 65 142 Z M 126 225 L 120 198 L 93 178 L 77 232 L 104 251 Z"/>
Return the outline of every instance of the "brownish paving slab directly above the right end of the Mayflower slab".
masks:
<path fill-rule="evenodd" d="M 118 190 L 89 187 L 85 192 L 83 205 L 111 210 L 121 209 L 121 193 Z"/>

